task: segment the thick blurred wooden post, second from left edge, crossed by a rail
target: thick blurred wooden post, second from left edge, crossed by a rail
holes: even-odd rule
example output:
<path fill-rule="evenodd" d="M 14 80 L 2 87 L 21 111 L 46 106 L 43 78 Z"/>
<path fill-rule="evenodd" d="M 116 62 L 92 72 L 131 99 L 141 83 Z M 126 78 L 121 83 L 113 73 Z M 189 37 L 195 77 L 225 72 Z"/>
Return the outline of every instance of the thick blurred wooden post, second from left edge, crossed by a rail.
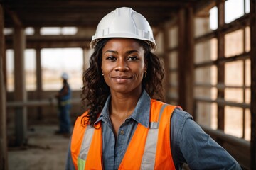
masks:
<path fill-rule="evenodd" d="M 24 72 L 24 50 L 25 50 L 24 28 L 14 28 L 14 98 L 16 101 L 26 101 L 25 72 Z M 26 143 L 26 107 L 15 109 L 16 145 Z"/>

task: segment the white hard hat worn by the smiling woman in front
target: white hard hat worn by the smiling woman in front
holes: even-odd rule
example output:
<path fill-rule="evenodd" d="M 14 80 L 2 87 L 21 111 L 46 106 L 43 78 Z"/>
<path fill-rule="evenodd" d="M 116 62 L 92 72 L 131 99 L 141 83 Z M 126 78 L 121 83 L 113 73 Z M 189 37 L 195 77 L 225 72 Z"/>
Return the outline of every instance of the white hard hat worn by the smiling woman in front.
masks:
<path fill-rule="evenodd" d="M 97 26 L 90 47 L 94 48 L 102 38 L 134 38 L 146 41 L 151 51 L 156 50 L 153 31 L 142 14 L 132 8 L 122 7 L 108 13 Z"/>

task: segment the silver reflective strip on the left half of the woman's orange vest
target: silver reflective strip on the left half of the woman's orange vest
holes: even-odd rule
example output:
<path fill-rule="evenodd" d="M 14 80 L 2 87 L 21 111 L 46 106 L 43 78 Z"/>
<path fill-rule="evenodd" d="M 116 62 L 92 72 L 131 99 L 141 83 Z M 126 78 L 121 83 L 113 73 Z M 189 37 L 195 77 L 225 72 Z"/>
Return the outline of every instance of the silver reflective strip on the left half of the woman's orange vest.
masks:
<path fill-rule="evenodd" d="M 94 130 L 95 129 L 92 126 L 88 125 L 85 130 L 84 138 L 82 140 L 82 146 L 80 149 L 79 157 L 80 157 L 80 159 L 83 159 L 85 161 L 87 159 L 87 154 L 90 149 L 90 143 L 92 142 L 92 135 L 93 135 Z"/>

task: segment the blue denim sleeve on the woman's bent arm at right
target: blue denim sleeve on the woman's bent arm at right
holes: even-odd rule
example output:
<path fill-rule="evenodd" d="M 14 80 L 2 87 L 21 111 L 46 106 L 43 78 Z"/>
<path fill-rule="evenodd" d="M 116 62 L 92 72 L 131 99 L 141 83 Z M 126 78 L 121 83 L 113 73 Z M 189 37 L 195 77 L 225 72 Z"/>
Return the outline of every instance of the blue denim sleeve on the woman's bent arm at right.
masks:
<path fill-rule="evenodd" d="M 193 121 L 175 109 L 171 118 L 171 153 L 176 169 L 241 169 L 238 162 Z"/>

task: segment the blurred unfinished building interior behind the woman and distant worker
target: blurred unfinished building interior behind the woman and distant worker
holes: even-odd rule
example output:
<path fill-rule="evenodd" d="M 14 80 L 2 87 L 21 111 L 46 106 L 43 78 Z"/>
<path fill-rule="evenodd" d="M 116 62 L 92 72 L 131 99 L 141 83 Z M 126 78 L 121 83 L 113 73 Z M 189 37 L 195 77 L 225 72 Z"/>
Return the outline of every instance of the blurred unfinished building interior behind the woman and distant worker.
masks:
<path fill-rule="evenodd" d="M 90 39 L 121 6 L 153 28 L 166 102 L 193 115 L 242 169 L 256 169 L 255 0 L 0 0 L 0 169 L 64 169 L 69 138 L 54 133 L 61 74 L 70 77 L 73 125 L 85 111 Z"/>

